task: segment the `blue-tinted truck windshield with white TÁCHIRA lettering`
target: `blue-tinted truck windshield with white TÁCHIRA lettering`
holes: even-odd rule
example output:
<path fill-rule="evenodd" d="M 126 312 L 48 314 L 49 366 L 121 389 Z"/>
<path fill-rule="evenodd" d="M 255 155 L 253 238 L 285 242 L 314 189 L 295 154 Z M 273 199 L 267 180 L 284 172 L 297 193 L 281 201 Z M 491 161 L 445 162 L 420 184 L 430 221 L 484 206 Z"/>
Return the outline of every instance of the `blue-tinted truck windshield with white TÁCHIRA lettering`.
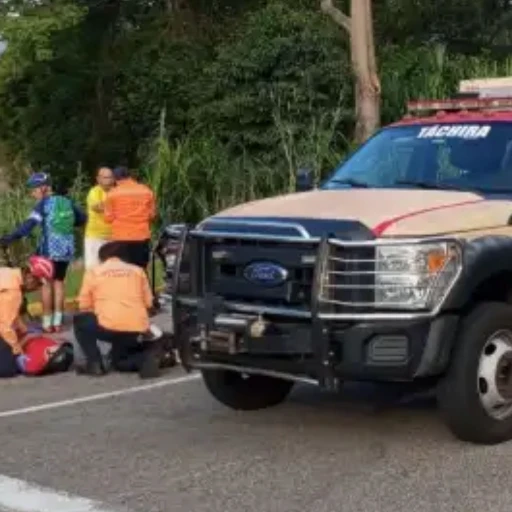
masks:
<path fill-rule="evenodd" d="M 320 188 L 344 187 L 512 192 L 512 123 L 384 128 Z"/>

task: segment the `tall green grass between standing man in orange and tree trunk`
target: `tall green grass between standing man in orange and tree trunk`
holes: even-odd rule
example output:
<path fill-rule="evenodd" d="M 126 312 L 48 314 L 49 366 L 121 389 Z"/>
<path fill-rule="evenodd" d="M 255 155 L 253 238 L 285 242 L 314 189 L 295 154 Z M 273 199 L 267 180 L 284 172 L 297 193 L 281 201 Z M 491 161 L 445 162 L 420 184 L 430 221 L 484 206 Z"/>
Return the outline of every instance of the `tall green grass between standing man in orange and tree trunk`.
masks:
<path fill-rule="evenodd" d="M 197 222 L 239 203 L 291 192 L 299 167 L 310 167 L 318 182 L 339 161 L 334 139 L 341 102 L 332 112 L 311 104 L 301 124 L 293 120 L 292 105 L 278 95 L 273 102 L 280 150 L 272 163 L 235 152 L 214 134 L 192 133 L 173 143 L 162 110 L 154 137 L 141 150 L 141 175 L 158 198 L 160 222 Z"/>

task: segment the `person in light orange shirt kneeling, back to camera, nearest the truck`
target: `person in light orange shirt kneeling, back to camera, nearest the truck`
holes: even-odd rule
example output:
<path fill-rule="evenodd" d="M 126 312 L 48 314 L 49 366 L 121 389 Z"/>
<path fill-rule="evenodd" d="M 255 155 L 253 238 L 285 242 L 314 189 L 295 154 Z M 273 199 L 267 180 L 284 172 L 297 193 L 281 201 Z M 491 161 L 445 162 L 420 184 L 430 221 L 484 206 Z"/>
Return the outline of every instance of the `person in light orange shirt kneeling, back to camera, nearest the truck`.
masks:
<path fill-rule="evenodd" d="M 163 338 L 149 322 L 153 294 L 144 270 L 123 262 L 121 253 L 120 244 L 107 243 L 99 251 L 100 264 L 85 273 L 78 296 L 80 313 L 73 320 L 76 341 L 86 359 L 77 373 L 107 373 L 99 340 L 112 345 L 114 369 L 154 378 L 160 373 Z"/>

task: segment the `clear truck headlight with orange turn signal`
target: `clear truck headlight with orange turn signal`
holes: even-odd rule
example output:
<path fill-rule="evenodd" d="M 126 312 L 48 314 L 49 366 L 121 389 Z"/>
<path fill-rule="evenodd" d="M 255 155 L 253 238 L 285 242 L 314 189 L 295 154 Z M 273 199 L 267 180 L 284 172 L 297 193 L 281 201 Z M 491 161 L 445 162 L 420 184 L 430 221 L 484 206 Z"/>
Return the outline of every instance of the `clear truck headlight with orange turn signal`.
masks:
<path fill-rule="evenodd" d="M 443 300 L 461 269 L 455 242 L 377 246 L 375 306 L 433 309 Z"/>

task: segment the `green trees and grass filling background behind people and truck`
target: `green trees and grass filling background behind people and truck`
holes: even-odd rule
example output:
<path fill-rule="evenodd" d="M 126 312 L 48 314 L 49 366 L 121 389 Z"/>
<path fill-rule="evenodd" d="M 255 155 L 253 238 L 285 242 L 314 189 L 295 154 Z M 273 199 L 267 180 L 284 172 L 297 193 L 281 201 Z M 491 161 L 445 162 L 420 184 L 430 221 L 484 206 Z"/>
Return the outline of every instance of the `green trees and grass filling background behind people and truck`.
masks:
<path fill-rule="evenodd" d="M 348 1 L 337 5 L 348 8 Z M 512 75 L 504 0 L 374 0 L 382 122 L 460 79 Z M 161 221 L 317 179 L 352 148 L 348 41 L 320 0 L 4 0 L 0 231 L 30 207 L 43 166 L 80 201 L 100 164 L 127 163 Z M 2 14 L 2 12 L 0 12 Z M 19 254 L 31 248 L 22 245 Z"/>

